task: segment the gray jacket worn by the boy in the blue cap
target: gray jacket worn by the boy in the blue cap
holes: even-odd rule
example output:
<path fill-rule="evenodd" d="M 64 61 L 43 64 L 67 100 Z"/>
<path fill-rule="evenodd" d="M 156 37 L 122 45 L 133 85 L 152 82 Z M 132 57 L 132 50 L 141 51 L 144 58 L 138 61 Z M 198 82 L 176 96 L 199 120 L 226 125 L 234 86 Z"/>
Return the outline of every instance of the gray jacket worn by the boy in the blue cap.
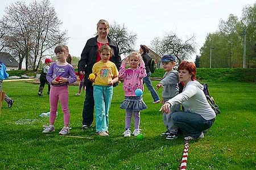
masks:
<path fill-rule="evenodd" d="M 171 99 L 179 94 L 179 75 L 176 70 L 172 70 L 169 73 L 164 73 L 163 79 L 160 81 L 163 84 L 163 99 Z"/>

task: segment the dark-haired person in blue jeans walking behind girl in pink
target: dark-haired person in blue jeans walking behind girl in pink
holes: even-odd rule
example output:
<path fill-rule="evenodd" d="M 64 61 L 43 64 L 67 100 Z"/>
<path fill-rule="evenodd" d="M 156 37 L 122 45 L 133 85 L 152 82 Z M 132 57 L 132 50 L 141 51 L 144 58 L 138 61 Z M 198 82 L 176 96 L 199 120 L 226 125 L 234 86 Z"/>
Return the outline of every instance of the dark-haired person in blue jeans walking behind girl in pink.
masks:
<path fill-rule="evenodd" d="M 146 84 L 147 89 L 150 91 L 151 96 L 153 97 L 153 103 L 160 103 L 160 98 L 157 94 L 157 92 L 155 91 L 155 88 L 152 86 L 151 80 L 150 80 L 150 76 L 151 76 L 151 72 L 150 72 L 150 56 L 148 56 L 149 49 L 147 48 L 146 45 L 141 45 L 141 48 L 139 49 L 139 53 L 141 53 L 141 56 L 143 58 L 143 61 L 145 63 L 145 67 L 146 67 L 146 72 L 147 72 L 147 76 L 145 78 L 143 78 L 143 83 Z"/>

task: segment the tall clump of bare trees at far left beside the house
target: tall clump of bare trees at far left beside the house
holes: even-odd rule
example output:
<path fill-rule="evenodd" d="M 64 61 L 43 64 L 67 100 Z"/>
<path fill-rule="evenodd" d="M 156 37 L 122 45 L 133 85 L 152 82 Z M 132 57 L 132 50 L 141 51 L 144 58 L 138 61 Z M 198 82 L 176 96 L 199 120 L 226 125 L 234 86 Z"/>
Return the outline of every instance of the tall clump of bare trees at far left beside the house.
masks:
<path fill-rule="evenodd" d="M 33 1 L 28 6 L 24 2 L 13 3 L 1 21 L 8 31 L 0 42 L 3 40 L 6 50 L 18 56 L 19 69 L 26 59 L 26 70 L 28 66 L 38 70 L 41 59 L 68 39 L 67 31 L 60 31 L 62 23 L 49 0 Z"/>

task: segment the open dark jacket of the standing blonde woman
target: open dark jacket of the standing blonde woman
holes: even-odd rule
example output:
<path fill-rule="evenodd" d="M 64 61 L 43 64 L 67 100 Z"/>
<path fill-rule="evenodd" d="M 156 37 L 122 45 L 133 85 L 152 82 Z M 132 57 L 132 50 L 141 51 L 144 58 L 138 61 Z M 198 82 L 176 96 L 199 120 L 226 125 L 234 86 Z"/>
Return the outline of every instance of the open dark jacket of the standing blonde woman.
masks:
<path fill-rule="evenodd" d="M 98 52 L 97 37 L 98 35 L 96 37 L 89 39 L 86 42 L 85 47 L 82 50 L 81 59 L 78 63 L 78 71 L 85 71 L 85 84 L 91 83 L 88 80 L 88 76 L 90 73 L 92 73 L 92 67 L 94 63 L 96 63 Z M 110 37 L 108 37 L 108 41 L 109 46 L 113 49 L 114 52 L 113 56 L 110 58 L 110 61 L 115 63 L 117 69 L 119 70 L 122 62 L 117 43 L 114 40 L 110 39 Z"/>

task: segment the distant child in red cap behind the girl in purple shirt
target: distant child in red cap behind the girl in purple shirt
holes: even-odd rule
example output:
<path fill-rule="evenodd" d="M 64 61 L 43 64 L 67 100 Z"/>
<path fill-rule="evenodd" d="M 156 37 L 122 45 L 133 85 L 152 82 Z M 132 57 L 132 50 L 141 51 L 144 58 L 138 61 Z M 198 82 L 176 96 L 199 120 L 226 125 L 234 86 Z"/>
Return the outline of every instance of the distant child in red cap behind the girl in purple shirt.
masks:
<path fill-rule="evenodd" d="M 48 92 L 47 92 L 48 95 L 49 95 L 49 91 L 51 90 L 51 86 L 50 86 L 49 82 L 46 79 L 46 75 L 49 71 L 49 66 L 51 65 L 51 62 L 52 62 L 52 60 L 49 59 L 49 58 L 46 58 L 44 60 L 44 63 L 46 63 L 46 65 L 43 67 L 42 74 L 39 77 L 39 80 L 40 80 L 40 86 L 39 86 L 39 90 L 38 90 L 38 95 L 39 96 L 43 96 L 43 90 L 44 90 L 44 85 L 45 84 L 48 84 Z"/>

